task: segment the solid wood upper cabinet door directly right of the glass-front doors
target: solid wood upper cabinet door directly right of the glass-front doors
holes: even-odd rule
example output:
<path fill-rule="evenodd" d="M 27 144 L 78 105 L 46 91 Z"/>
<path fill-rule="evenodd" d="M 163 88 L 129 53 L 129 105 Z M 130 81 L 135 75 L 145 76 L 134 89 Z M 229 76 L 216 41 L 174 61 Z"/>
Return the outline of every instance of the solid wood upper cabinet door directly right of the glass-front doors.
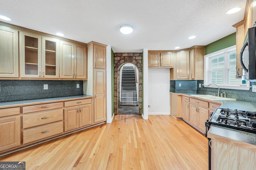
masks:
<path fill-rule="evenodd" d="M 74 78 L 74 43 L 60 43 L 60 78 Z"/>

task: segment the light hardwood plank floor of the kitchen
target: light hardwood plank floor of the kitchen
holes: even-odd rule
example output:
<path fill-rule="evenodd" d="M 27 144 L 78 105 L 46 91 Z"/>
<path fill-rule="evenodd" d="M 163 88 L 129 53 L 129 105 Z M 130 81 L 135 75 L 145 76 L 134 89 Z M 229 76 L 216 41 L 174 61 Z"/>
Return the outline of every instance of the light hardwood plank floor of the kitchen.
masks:
<path fill-rule="evenodd" d="M 208 139 L 170 115 L 115 115 L 84 131 L 0 157 L 26 170 L 207 170 Z"/>

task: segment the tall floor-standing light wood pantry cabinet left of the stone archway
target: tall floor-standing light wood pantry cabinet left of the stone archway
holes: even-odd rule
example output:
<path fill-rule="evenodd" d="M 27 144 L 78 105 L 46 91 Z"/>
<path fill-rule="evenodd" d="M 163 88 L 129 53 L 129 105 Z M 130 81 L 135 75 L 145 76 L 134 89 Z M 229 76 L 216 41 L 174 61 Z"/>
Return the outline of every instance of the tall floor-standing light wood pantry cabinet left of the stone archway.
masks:
<path fill-rule="evenodd" d="M 102 51 L 96 57 L 96 49 Z M 84 84 L 84 94 L 93 96 L 92 124 L 106 121 L 106 45 L 94 41 L 88 43 L 88 80 Z M 99 60 L 99 55 L 101 55 Z M 103 64 L 103 65 L 102 65 Z"/>

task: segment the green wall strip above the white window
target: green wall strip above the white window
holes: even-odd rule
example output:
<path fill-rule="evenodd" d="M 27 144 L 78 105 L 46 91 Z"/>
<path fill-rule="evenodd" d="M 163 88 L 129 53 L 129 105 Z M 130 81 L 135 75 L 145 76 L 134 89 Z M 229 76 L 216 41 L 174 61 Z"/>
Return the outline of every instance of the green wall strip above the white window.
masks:
<path fill-rule="evenodd" d="M 206 45 L 204 48 L 204 55 L 208 55 L 210 53 L 231 47 L 233 45 L 236 45 L 236 33 L 232 33 L 222 39 Z"/>

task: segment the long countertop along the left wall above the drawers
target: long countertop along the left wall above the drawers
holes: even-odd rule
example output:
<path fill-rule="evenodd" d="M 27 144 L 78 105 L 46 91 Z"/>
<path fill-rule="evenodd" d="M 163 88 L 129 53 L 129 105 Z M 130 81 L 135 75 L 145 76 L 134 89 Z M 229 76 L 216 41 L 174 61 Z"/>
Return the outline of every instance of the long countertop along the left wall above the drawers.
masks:
<path fill-rule="evenodd" d="M 41 102 L 56 102 L 58 100 L 70 100 L 76 98 L 92 98 L 90 95 L 80 95 L 80 96 L 66 96 L 66 97 L 59 97 L 59 98 L 44 98 L 44 99 L 35 99 L 35 100 L 20 100 L 14 102 L 0 102 L 0 107 L 4 106 L 14 106 L 14 105 L 21 105 L 21 104 L 32 104 L 32 103 L 41 103 Z"/>

